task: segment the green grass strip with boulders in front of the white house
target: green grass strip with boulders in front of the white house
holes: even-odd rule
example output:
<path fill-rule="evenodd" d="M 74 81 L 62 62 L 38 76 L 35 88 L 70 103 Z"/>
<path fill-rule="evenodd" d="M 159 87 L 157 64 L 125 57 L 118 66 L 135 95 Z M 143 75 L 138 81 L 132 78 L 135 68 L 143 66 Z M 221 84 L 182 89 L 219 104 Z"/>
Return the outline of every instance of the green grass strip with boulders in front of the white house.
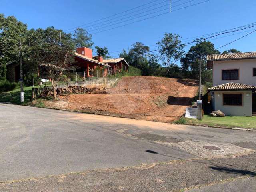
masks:
<path fill-rule="evenodd" d="M 204 126 L 222 126 L 228 128 L 254 128 L 256 129 L 256 117 L 226 116 L 211 117 L 204 115 L 202 121 L 182 117 L 174 122 L 175 124 L 190 124 Z"/>

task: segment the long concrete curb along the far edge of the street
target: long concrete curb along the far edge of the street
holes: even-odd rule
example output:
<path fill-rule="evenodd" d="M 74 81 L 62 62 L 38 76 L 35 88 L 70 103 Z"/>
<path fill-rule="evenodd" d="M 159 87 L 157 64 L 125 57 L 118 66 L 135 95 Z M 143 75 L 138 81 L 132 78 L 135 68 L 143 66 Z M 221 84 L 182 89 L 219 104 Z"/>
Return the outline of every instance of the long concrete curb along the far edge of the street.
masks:
<path fill-rule="evenodd" d="M 14 103 L 10 103 L 10 102 L 0 102 L 0 103 L 18 105 L 18 104 L 14 104 Z M 119 118 L 126 118 L 126 119 L 139 120 L 139 119 L 136 119 L 136 118 L 122 117 L 122 116 L 118 116 L 118 115 L 110 115 L 110 114 L 102 114 L 102 113 L 93 113 L 93 112 L 81 112 L 81 111 L 69 110 L 69 109 L 59 109 L 59 108 L 49 108 L 49 107 L 38 107 L 38 106 L 32 106 L 32 105 L 23 105 L 23 106 L 35 107 L 35 108 L 44 108 L 44 109 L 54 109 L 54 110 L 68 111 L 68 112 L 75 112 L 75 113 L 84 113 L 84 114 L 92 114 L 92 115 L 103 115 L 103 116 L 110 116 L 110 117 L 119 117 Z M 153 122 L 158 122 L 158 121 L 153 121 Z M 160 122 L 160 123 L 165 123 L 165 122 Z M 173 123 L 167 123 L 167 124 L 173 124 Z M 177 125 L 177 124 L 174 124 L 174 125 Z M 209 128 L 231 129 L 231 130 L 242 130 L 242 131 L 256 131 L 256 130 L 254 130 L 254 129 L 230 128 L 230 127 L 222 127 L 222 126 L 207 126 L 207 125 L 195 125 L 195 124 L 184 124 L 184 125 L 191 125 L 191 126 L 198 126 L 198 127 L 209 127 Z"/>

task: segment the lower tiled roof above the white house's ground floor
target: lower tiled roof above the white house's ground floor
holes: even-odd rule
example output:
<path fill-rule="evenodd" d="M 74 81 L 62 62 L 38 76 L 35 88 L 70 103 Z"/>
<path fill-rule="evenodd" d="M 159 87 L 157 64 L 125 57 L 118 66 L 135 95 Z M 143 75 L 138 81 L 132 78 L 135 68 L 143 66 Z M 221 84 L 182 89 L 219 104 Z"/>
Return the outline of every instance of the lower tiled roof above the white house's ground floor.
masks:
<path fill-rule="evenodd" d="M 208 88 L 209 91 L 218 90 L 256 90 L 256 86 L 250 86 L 240 83 L 226 83 L 215 87 Z"/>

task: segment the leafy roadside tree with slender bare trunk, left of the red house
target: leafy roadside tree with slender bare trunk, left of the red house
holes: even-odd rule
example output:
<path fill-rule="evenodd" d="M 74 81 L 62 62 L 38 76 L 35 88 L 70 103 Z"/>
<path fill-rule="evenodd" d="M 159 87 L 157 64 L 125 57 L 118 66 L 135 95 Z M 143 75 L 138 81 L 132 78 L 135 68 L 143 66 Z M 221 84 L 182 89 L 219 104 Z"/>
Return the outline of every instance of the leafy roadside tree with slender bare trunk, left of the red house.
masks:
<path fill-rule="evenodd" d="M 72 36 L 54 27 L 48 27 L 46 30 L 38 29 L 36 33 L 40 38 L 34 42 L 32 50 L 35 55 L 34 60 L 46 70 L 52 83 L 54 100 L 56 100 L 55 88 L 68 64 L 74 60 Z"/>

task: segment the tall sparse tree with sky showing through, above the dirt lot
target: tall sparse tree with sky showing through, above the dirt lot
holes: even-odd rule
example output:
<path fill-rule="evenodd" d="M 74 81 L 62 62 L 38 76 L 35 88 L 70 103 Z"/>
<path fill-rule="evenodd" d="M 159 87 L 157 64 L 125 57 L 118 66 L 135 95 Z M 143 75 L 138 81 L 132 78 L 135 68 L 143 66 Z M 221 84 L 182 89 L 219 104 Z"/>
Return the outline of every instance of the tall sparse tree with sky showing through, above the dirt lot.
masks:
<path fill-rule="evenodd" d="M 182 44 L 179 35 L 172 33 L 165 33 L 164 38 L 156 44 L 159 49 L 159 58 L 167 69 L 166 75 L 170 75 L 171 68 L 184 54 L 184 44 Z"/>

